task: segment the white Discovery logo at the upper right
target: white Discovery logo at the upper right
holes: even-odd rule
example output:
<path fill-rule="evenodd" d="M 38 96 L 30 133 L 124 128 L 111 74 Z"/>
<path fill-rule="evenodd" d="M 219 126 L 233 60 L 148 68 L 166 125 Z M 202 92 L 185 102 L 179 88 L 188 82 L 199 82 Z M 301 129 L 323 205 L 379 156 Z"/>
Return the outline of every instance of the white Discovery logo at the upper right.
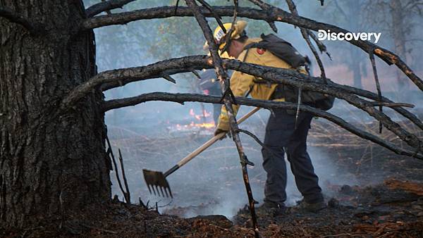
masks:
<path fill-rule="evenodd" d="M 352 39 L 354 40 L 363 40 L 363 41 L 372 41 L 374 39 L 374 44 L 379 42 L 379 38 L 381 37 L 381 32 L 331 32 L 331 30 L 319 30 L 317 33 L 317 37 L 319 41 L 323 41 L 325 39 L 329 41 L 350 41 Z"/>

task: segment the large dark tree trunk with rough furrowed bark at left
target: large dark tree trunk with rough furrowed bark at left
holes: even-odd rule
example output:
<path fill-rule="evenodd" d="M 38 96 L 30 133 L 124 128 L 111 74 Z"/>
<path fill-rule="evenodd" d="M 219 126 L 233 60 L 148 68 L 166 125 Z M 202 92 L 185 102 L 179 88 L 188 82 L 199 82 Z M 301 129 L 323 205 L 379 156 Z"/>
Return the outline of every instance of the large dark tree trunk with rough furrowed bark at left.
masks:
<path fill-rule="evenodd" d="M 102 94 L 58 111 L 63 96 L 95 73 L 94 35 L 78 33 L 82 1 L 0 5 L 47 30 L 32 36 L 0 17 L 0 225 L 63 219 L 109 201 Z"/>

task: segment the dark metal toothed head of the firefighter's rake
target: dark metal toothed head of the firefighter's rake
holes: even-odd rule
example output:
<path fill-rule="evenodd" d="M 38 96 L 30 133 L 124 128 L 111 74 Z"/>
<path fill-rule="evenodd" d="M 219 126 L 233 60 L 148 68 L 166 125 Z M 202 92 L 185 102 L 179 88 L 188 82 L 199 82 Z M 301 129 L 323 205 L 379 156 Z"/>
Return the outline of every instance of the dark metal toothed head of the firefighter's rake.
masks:
<path fill-rule="evenodd" d="M 171 187 L 163 173 L 152 170 L 142 170 L 142 173 L 144 174 L 144 180 L 150 194 L 154 194 L 154 196 L 160 196 L 160 194 L 161 196 L 165 196 L 166 194 L 166 197 L 170 195 L 173 198 Z"/>

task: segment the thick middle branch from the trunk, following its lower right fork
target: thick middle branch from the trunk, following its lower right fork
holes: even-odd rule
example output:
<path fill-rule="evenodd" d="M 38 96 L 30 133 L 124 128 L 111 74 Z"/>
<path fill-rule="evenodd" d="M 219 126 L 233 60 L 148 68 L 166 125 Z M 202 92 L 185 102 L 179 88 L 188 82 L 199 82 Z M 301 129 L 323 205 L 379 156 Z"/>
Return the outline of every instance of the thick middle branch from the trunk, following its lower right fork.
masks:
<path fill-rule="evenodd" d="M 192 61 L 190 61 L 190 58 L 192 58 Z M 176 62 L 180 64 L 175 65 Z M 255 65 L 252 63 L 243 63 L 235 60 L 224 60 L 224 62 L 226 68 L 231 68 L 233 70 L 247 73 L 249 75 L 256 75 L 272 83 L 288 84 L 293 87 L 302 88 L 303 90 L 321 92 L 323 94 L 336 96 L 339 99 L 344 99 L 349 104 L 362 109 L 362 111 L 365 111 L 376 120 L 379 120 L 381 123 L 383 123 L 386 129 L 391 130 L 391 132 L 400 137 L 400 139 L 403 139 L 403 141 L 409 144 L 410 146 L 417 149 L 421 149 L 421 145 L 423 143 L 414 134 L 403 130 L 403 128 L 400 127 L 398 123 L 393 122 L 393 120 L 391 120 L 391 118 L 389 118 L 384 113 L 377 111 L 374 107 L 369 107 L 369 103 L 372 102 L 361 99 L 359 96 L 356 96 L 355 94 L 351 94 L 350 92 L 346 91 L 345 89 L 348 89 L 348 87 L 338 87 L 333 82 L 328 84 L 321 84 L 318 82 L 318 78 L 303 75 L 301 73 L 296 72 L 295 70 L 272 68 L 262 65 Z M 188 65 L 185 70 L 181 70 L 183 64 Z M 144 80 L 145 78 L 157 77 L 157 75 L 160 75 L 159 77 L 162 77 L 162 72 L 166 72 L 166 70 L 177 70 L 178 72 L 186 72 L 188 71 L 187 68 L 192 68 L 195 66 L 211 68 L 211 65 L 212 62 L 209 61 L 209 58 L 205 56 L 188 56 L 168 61 L 162 61 L 161 63 L 154 63 L 152 65 L 147 65 L 139 68 L 106 71 L 105 73 L 100 73 L 99 75 L 94 76 L 91 80 L 88 80 L 84 84 L 80 84 L 80 86 L 76 87 L 70 94 L 68 94 L 68 96 L 66 96 L 65 99 L 63 99 L 61 109 L 65 111 L 68 110 L 69 107 L 73 106 L 77 101 L 82 99 L 83 96 L 91 92 L 92 89 L 99 87 L 99 85 L 104 82 L 119 82 L 120 84 L 123 84 L 123 80 L 125 79 L 125 77 L 130 78 L 130 80 L 132 81 Z M 168 74 L 170 75 L 170 73 Z M 128 82 L 129 80 L 125 81 Z M 360 89 L 350 91 L 364 92 L 365 94 L 369 94 L 369 92 L 360 91 Z M 379 96 L 376 96 L 376 100 L 377 99 L 379 99 Z M 412 118 L 410 120 L 414 122 L 415 118 Z M 422 123 L 420 122 L 419 125 L 421 124 Z"/>

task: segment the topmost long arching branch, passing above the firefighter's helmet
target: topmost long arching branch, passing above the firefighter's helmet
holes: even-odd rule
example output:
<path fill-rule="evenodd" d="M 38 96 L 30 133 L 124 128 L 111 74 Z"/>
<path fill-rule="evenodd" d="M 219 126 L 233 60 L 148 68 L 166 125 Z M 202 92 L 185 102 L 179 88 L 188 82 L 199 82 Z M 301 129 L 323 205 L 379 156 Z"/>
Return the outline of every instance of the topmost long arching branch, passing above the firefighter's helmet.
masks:
<path fill-rule="evenodd" d="M 212 13 L 210 13 L 207 8 L 199 7 L 201 13 L 204 16 L 212 17 Z M 117 24 L 125 24 L 129 23 L 134 20 L 142 20 L 142 19 L 152 19 L 152 18 L 169 18 L 172 16 L 192 16 L 192 12 L 190 8 L 187 7 L 178 7 L 178 12 L 175 15 L 175 7 L 174 6 L 163 6 L 159 8 L 149 8 L 149 9 L 142 9 L 137 11 L 130 11 L 126 13 L 117 13 L 112 15 L 100 15 L 94 18 L 90 18 L 85 20 L 82 23 L 82 30 L 92 29 L 96 27 L 102 27 L 105 25 L 117 25 Z M 233 7 L 232 6 L 214 6 L 213 10 L 215 13 L 221 16 L 231 16 L 233 15 Z M 337 27 L 335 25 L 330 25 L 326 23 L 320 23 L 315 20 L 311 20 L 309 18 L 304 18 L 301 16 L 295 16 L 287 11 L 284 11 L 281 8 L 276 8 L 271 6 L 269 10 L 259 10 L 255 8 L 238 8 L 238 17 L 243 18 L 251 18 L 256 20 L 266 20 L 267 22 L 272 21 L 280 21 L 284 23 L 289 23 L 292 25 L 296 25 L 298 27 L 304 27 L 309 30 L 331 30 L 331 32 L 343 32 L 346 33 L 348 30 L 345 30 L 341 27 Z M 369 54 L 370 52 L 374 52 L 376 56 L 381 58 L 383 61 L 388 63 L 389 65 L 395 64 L 397 67 L 407 75 L 407 77 L 414 82 L 420 90 L 423 91 L 423 81 L 415 75 L 415 73 L 406 65 L 403 60 L 393 54 L 393 52 L 388 51 L 387 49 L 381 48 L 376 44 L 372 44 L 371 42 L 362 41 L 362 40 L 350 40 L 351 44 L 358 46 L 363 51 Z"/>

